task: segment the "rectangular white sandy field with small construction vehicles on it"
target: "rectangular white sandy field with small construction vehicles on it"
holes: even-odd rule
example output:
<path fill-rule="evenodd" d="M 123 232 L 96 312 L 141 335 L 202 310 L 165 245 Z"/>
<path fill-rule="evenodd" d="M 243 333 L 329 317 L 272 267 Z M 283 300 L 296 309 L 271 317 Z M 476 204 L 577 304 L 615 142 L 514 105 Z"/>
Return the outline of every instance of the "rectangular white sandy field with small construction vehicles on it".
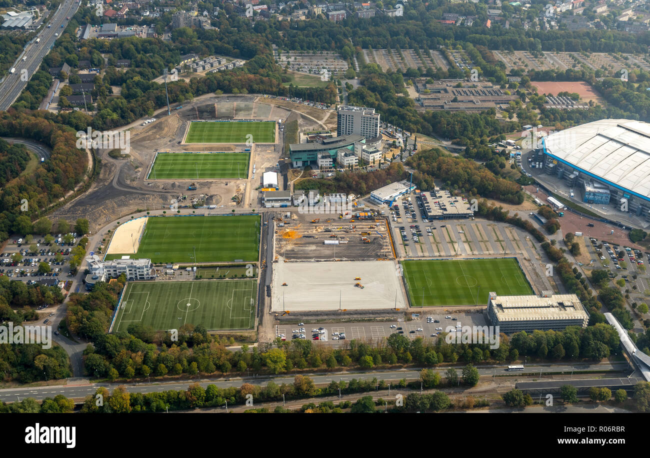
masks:
<path fill-rule="evenodd" d="M 396 261 L 283 262 L 273 265 L 271 310 L 406 309 Z M 361 280 L 355 280 L 361 277 Z M 361 283 L 363 289 L 354 286 Z M 287 283 L 287 286 L 282 286 Z"/>

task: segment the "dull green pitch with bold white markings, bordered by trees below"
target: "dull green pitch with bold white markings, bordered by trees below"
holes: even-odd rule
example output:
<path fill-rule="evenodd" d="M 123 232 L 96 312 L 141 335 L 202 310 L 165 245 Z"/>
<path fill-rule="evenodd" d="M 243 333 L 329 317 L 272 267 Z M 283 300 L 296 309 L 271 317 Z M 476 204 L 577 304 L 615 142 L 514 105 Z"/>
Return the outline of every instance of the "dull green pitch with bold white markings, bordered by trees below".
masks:
<path fill-rule="evenodd" d="M 112 332 L 126 331 L 134 323 L 156 331 L 184 324 L 215 330 L 251 329 L 255 298 L 255 280 L 129 283 Z"/>

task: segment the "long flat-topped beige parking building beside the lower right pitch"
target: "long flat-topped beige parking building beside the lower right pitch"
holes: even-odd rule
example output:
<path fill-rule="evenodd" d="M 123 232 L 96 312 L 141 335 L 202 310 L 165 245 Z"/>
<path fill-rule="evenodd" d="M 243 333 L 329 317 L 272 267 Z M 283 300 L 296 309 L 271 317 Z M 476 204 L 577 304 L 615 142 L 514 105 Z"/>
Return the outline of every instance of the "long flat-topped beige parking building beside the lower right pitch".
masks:
<path fill-rule="evenodd" d="M 589 314 L 575 294 L 552 294 L 543 291 L 541 296 L 497 296 L 489 293 L 487 316 L 499 332 L 512 334 L 540 331 L 562 331 L 567 326 L 587 327 Z"/>

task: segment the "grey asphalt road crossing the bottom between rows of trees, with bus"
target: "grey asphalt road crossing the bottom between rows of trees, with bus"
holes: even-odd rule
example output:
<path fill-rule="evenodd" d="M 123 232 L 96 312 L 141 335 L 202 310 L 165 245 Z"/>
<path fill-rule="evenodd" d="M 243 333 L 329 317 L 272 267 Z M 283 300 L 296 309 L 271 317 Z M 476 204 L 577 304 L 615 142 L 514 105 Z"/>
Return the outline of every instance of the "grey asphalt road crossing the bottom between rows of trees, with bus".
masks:
<path fill-rule="evenodd" d="M 506 375 L 508 372 L 505 370 L 505 366 L 482 366 L 477 367 L 478 372 L 482 376 L 489 375 Z M 433 368 L 434 372 L 437 372 L 441 377 L 445 376 L 447 368 Z M 456 371 L 460 375 L 462 366 L 457 366 Z M 543 374 L 552 372 L 565 372 L 567 374 L 578 374 L 580 371 L 591 371 L 591 372 L 606 372 L 606 371 L 629 371 L 629 364 L 627 363 L 610 363 L 609 361 L 603 361 L 601 363 L 594 364 L 542 364 L 539 366 L 528 366 L 523 372 L 517 372 L 517 375 L 523 376 L 533 376 L 541 372 Z M 389 383 L 391 381 L 398 381 L 400 379 L 419 379 L 420 371 L 419 370 L 407 370 L 407 369 L 398 369 L 398 370 L 376 370 L 369 372 L 333 372 L 329 374 L 302 374 L 308 375 L 314 383 L 316 384 L 328 384 L 331 381 L 350 381 L 352 379 L 365 380 L 373 379 L 376 377 L 378 380 L 385 380 Z M 510 373 L 512 375 L 512 373 Z M 569 377 L 569 375 L 567 375 Z M 168 383 L 136 383 L 125 385 L 123 383 L 85 383 L 83 385 L 50 385 L 46 387 L 25 387 L 25 388 L 5 388 L 0 390 L 0 400 L 5 402 L 20 401 L 25 398 L 34 398 L 36 400 L 43 400 L 44 398 L 53 398 L 57 394 L 63 394 L 66 398 L 85 398 L 89 394 L 94 394 L 99 387 L 106 387 L 109 390 L 125 385 L 127 390 L 130 393 L 148 393 L 148 392 L 157 392 L 157 391 L 167 391 L 167 390 L 187 390 L 188 385 L 192 383 L 200 383 L 200 385 L 205 388 L 207 385 L 216 385 L 220 388 L 227 387 L 241 387 L 244 383 L 252 383 L 253 385 L 265 386 L 268 382 L 274 381 L 278 385 L 282 383 L 291 384 L 294 381 L 294 375 L 265 375 L 263 377 L 232 377 L 226 379 L 194 379 L 194 380 L 183 380 L 183 381 L 172 381 Z"/>

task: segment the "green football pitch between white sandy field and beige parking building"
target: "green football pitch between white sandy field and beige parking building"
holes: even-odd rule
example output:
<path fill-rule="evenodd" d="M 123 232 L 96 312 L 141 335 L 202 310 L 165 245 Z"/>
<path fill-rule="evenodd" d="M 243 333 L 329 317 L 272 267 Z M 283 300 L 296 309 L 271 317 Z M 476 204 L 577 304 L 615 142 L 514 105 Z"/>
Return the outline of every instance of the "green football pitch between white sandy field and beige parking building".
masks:
<path fill-rule="evenodd" d="M 478 305 L 487 294 L 533 294 L 516 259 L 402 261 L 411 307 Z"/>

